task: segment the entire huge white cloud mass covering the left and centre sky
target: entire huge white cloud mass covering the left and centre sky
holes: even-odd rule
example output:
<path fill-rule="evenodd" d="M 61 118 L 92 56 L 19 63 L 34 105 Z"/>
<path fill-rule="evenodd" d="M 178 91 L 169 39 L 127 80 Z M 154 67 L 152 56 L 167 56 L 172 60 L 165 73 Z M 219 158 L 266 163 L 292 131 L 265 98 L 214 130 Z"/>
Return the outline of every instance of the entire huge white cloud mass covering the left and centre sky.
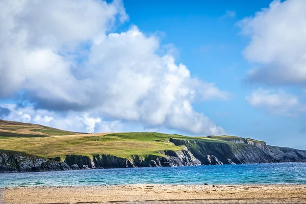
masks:
<path fill-rule="evenodd" d="M 20 111 L 25 121 L 57 127 L 60 121 L 69 127 L 69 118 L 94 132 L 98 124 L 107 130 L 117 125 L 100 119 L 107 117 L 193 134 L 225 133 L 192 103 L 230 95 L 214 83 L 192 78 L 184 64 L 175 63 L 171 50 L 158 55 L 158 36 L 147 36 L 135 25 L 112 33 L 117 23 L 128 19 L 122 2 L 0 4 L 0 98 L 22 91 L 37 111 L 76 113 L 60 120 L 56 114 L 28 117 Z M 88 115 L 93 112 L 96 117 Z"/>

